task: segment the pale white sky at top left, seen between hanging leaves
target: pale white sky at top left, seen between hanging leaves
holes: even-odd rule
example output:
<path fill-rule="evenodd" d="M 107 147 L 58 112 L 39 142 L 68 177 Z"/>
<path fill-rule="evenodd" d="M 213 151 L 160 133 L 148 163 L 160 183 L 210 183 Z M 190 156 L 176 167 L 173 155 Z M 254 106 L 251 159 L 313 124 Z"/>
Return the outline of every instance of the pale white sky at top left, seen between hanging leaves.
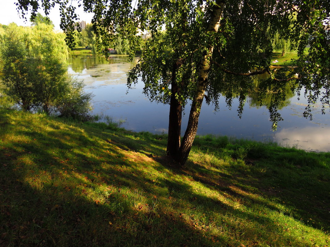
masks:
<path fill-rule="evenodd" d="M 17 13 L 16 0 L 0 0 L 0 23 L 4 25 L 8 25 L 11 22 L 15 22 L 19 26 L 30 26 L 30 21 L 24 22 L 24 19 L 20 18 L 20 15 Z M 42 15 L 45 13 L 40 10 L 39 11 Z M 92 14 L 84 13 L 82 8 L 77 10 L 77 14 L 80 17 L 81 21 L 86 21 L 86 23 L 90 23 L 92 19 Z M 30 18 L 30 15 L 27 15 L 27 19 Z M 49 14 L 50 20 L 55 25 L 55 30 L 60 30 L 60 14 L 59 9 L 55 7 L 55 9 L 50 10 Z"/>

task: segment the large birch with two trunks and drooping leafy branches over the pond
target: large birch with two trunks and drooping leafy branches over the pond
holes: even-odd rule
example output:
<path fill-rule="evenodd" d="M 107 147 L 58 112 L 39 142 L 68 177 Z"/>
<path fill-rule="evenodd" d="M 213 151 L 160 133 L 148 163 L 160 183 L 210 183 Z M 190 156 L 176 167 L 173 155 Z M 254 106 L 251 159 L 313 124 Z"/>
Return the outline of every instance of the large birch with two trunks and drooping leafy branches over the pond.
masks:
<path fill-rule="evenodd" d="M 48 13 L 60 5 L 62 28 L 70 43 L 77 16 L 72 1 L 41 0 Z M 167 154 L 183 165 L 198 126 L 203 99 L 219 108 L 220 93 L 230 107 L 239 98 L 241 116 L 252 76 L 268 73 L 260 85 L 262 95 L 274 93 L 269 103 L 270 119 L 276 128 L 282 120 L 277 107 L 289 85 L 298 93 L 305 89 L 311 106 L 320 98 L 329 103 L 329 45 L 323 24 L 330 13 L 328 1 L 315 0 L 77 0 L 85 11 L 93 12 L 99 44 L 111 42 L 118 34 L 129 41 L 131 53 L 139 45 L 138 29 L 151 33 L 140 62 L 128 77 L 128 86 L 142 80 L 150 100 L 170 104 Z M 37 0 L 18 0 L 18 10 L 38 10 Z M 285 32 L 298 51 L 297 67 L 270 68 L 276 33 Z M 305 54 L 306 45 L 310 45 Z M 308 61 L 308 63 L 306 63 Z M 140 79 L 141 78 L 141 79 Z M 190 105 L 188 125 L 181 139 L 182 108 Z M 324 110 L 324 109 L 323 109 Z"/>

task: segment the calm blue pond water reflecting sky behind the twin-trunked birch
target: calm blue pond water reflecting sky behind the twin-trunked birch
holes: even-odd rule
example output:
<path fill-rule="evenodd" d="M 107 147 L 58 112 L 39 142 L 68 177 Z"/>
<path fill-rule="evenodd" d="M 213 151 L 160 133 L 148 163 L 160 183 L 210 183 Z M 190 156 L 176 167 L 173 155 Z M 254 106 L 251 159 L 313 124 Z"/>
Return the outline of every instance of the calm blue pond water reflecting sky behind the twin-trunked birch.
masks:
<path fill-rule="evenodd" d="M 150 102 L 142 93 L 141 82 L 127 92 L 126 72 L 134 63 L 128 63 L 126 57 L 112 57 L 109 61 L 90 56 L 71 58 L 69 73 L 82 79 L 85 91 L 93 92 L 93 114 L 103 113 L 115 120 L 125 120 L 122 127 L 134 131 L 154 133 L 167 132 L 169 105 Z M 266 107 L 251 107 L 247 100 L 242 119 L 237 116 L 238 100 L 234 100 L 232 110 L 226 107 L 224 97 L 219 100 L 220 110 L 214 112 L 214 106 L 202 105 L 197 134 L 227 135 L 257 141 L 275 141 L 283 146 L 297 146 L 309 151 L 330 151 L 330 114 L 321 114 L 320 107 L 313 110 L 313 120 L 302 117 L 306 99 L 298 101 L 291 97 L 281 113 L 284 121 L 278 130 L 271 130 L 269 113 Z M 184 133 L 189 115 L 189 107 L 182 119 Z"/>

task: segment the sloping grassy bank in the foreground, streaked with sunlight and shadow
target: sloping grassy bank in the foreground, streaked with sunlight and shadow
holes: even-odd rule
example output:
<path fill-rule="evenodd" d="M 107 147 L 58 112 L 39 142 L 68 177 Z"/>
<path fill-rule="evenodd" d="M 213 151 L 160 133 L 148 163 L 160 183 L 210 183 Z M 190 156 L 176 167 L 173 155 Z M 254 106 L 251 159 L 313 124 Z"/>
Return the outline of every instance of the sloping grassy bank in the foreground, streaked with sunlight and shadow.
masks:
<path fill-rule="evenodd" d="M 0 116 L 0 246 L 330 245 L 330 153 Z"/>

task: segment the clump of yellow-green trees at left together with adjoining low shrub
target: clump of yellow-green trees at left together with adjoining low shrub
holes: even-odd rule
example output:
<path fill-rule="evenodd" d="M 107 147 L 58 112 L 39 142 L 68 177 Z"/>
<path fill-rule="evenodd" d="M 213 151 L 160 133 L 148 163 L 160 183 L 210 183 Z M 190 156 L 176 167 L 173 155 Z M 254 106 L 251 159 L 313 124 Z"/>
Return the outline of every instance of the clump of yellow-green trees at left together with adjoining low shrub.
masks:
<path fill-rule="evenodd" d="M 36 22 L 33 27 L 15 23 L 0 30 L 1 78 L 6 94 L 23 110 L 44 112 L 87 120 L 92 94 L 83 83 L 68 81 L 67 46 L 63 34 L 51 25 Z"/>

